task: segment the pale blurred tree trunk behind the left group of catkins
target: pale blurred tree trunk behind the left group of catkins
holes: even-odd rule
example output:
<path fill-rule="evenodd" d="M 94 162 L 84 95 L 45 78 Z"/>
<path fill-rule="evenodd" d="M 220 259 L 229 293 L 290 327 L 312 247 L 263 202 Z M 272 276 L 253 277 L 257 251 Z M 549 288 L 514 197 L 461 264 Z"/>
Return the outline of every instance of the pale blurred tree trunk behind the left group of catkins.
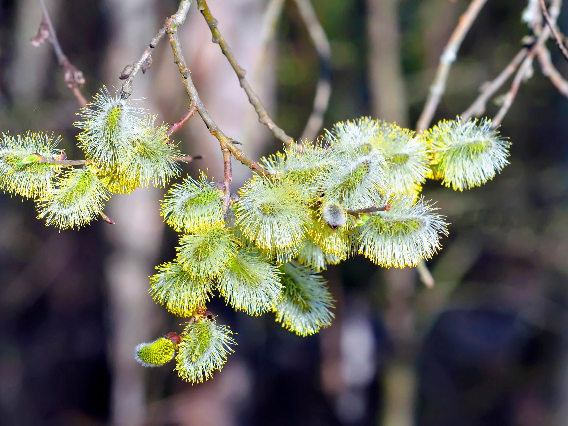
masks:
<path fill-rule="evenodd" d="M 146 0 L 107 0 L 111 12 L 105 82 L 119 86 L 118 76 L 128 62 L 136 61 L 162 25 L 163 16 Z M 165 44 L 161 45 L 166 47 Z M 143 106 L 160 114 L 151 99 L 159 90 L 151 86 L 151 73 L 139 74 L 133 83 L 133 99 L 148 97 Z M 160 114 L 161 116 L 161 114 Z M 136 363 L 133 349 L 156 334 L 161 309 L 148 296 L 148 275 L 157 264 L 164 224 L 158 214 L 163 190 L 138 189 L 129 195 L 115 195 L 106 213 L 116 225 L 106 229 L 108 257 L 106 277 L 111 318 L 108 347 L 112 369 L 111 421 L 117 425 L 144 423 L 145 370 Z"/>

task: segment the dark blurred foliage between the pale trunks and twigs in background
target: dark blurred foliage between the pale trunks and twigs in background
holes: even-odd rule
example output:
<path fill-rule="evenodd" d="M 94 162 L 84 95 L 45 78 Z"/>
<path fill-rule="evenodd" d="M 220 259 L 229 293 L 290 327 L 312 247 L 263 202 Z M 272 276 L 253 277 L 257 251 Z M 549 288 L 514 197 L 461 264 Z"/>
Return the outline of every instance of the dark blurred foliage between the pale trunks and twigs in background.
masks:
<path fill-rule="evenodd" d="M 373 114 L 366 3 L 313 3 L 333 50 L 333 93 L 325 126 Z M 438 57 L 467 3 L 398 4 L 410 123 L 420 114 Z M 26 31 L 16 28 L 16 11 L 39 5 L 0 4 L 1 130 L 41 125 L 73 140 L 76 103 L 48 47 L 41 48 L 48 51 L 43 68 L 16 70 L 24 82 L 31 73 L 43 76 L 34 103 L 14 98 L 10 87 L 18 42 L 34 35 L 37 25 L 30 23 Z M 217 10 L 222 4 L 215 2 Z M 462 45 L 437 119 L 465 110 L 481 83 L 515 55 L 527 34 L 520 21 L 525 4 L 488 1 Z M 160 19 L 175 7 L 173 0 L 160 2 Z M 568 28 L 566 10 L 559 19 L 561 28 Z M 85 72 L 83 93 L 89 96 L 101 83 L 118 84 L 103 80 L 106 49 L 116 36 L 112 14 L 111 3 L 103 1 L 60 2 L 61 44 Z M 552 41 L 549 47 L 560 72 L 568 76 Z M 168 46 L 162 43 L 160 49 L 167 51 Z M 278 27 L 277 49 L 273 118 L 287 133 L 299 135 L 311 111 L 319 65 L 292 2 L 286 3 Z M 132 52 L 128 60 L 140 52 Z M 137 79 L 156 76 L 154 68 Z M 236 78 L 229 83 L 237 85 Z M 496 106 L 490 105 L 488 115 L 495 112 Z M 282 329 L 270 314 L 251 318 L 214 299 L 208 308 L 239 333 L 237 352 L 213 382 L 203 385 L 179 381 L 169 367 L 145 371 L 147 423 L 203 423 L 206 403 L 211 403 L 211 410 L 229 412 L 221 418 L 233 424 L 381 424 L 385 395 L 394 391 L 396 396 L 396 389 L 385 387 L 383 372 L 400 358 L 415 365 L 410 373 L 417 396 L 410 417 L 416 424 L 567 424 L 567 115 L 568 102 L 535 63 L 534 77 L 521 87 L 501 128 L 513 143 L 511 165 L 486 186 L 464 193 L 428 182 L 425 197 L 438 202 L 452 225 L 444 250 L 428 263 L 435 289 L 425 290 L 413 278 L 415 293 L 408 304 L 416 325 L 407 339 L 408 352 L 394 349 L 385 321 L 386 275 L 356 258 L 325 273 L 337 299 L 337 319 L 318 336 L 302 339 Z M 193 120 L 191 126 L 202 126 L 198 118 Z M 278 147 L 277 141 L 266 139 L 262 151 Z M 80 153 L 68 149 L 68 154 L 76 158 Z M 108 225 L 99 221 L 78 232 L 59 233 L 45 228 L 35 215 L 31 202 L 0 194 L 1 423 L 107 423 L 117 398 L 111 393 L 112 303 L 104 261 L 110 250 L 103 237 Z M 166 230 L 156 242 L 160 262 L 174 256 L 175 243 L 175 233 Z M 153 265 L 145 268 L 152 273 Z M 158 335 L 178 329 L 178 319 L 163 318 Z M 196 414 L 201 411 L 193 400 L 205 404 L 205 417 Z M 218 418 L 213 412 L 211 416 Z M 403 418 L 385 424 L 406 423 Z"/>

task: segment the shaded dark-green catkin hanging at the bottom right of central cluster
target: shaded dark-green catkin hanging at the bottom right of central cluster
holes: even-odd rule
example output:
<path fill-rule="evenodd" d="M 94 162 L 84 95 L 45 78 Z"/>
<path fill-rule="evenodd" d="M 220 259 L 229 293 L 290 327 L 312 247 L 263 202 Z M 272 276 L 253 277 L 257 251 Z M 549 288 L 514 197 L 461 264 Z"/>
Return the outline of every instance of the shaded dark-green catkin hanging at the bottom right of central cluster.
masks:
<path fill-rule="evenodd" d="M 285 290 L 274 312 L 282 327 L 299 336 L 307 336 L 330 325 L 333 299 L 325 280 L 307 266 L 295 262 L 284 264 L 281 269 Z"/>

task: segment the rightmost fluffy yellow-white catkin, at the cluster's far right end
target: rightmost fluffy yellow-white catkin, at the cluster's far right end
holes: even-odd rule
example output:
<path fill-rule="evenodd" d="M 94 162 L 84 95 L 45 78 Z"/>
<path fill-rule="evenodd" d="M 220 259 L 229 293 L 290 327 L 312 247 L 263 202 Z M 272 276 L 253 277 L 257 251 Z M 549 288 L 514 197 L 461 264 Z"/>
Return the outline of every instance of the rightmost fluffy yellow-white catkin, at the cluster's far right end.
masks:
<path fill-rule="evenodd" d="M 509 164 L 511 144 L 490 119 L 442 120 L 422 137 L 432 151 L 433 177 L 454 190 L 481 186 Z"/>

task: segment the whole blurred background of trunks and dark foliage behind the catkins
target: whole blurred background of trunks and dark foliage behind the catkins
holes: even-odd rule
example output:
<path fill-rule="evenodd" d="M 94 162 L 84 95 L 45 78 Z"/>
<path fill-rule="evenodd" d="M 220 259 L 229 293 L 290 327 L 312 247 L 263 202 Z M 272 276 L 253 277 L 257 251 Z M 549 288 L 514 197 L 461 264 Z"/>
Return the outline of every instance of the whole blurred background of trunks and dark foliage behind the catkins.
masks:
<path fill-rule="evenodd" d="M 85 73 L 87 98 L 139 59 L 177 9 L 174 0 L 46 0 L 61 46 Z M 272 2 L 278 3 L 278 2 Z M 272 118 L 299 138 L 312 110 L 320 60 L 295 2 L 280 2 L 265 43 L 266 0 L 210 0 L 219 28 Z M 312 0 L 331 44 L 331 102 L 323 127 L 372 115 L 414 127 L 440 54 L 466 0 Z M 50 45 L 32 47 L 36 0 L 0 2 L 0 130 L 49 130 L 79 159 L 77 101 Z M 489 0 L 462 44 L 435 119 L 477 97 L 529 34 L 527 1 Z M 568 28 L 568 6 L 558 20 Z M 195 5 L 179 31 L 202 99 L 252 157 L 280 147 L 256 118 Z M 553 41 L 559 72 L 568 66 Z M 327 69 L 325 67 L 324 69 Z M 329 64 L 327 64 L 329 65 Z M 510 82 L 502 89 L 508 90 Z M 133 83 L 133 98 L 176 122 L 189 101 L 166 40 Z M 488 116 L 497 106 L 488 105 Z M 148 275 L 172 260 L 164 189 L 115 196 L 80 231 L 46 228 L 34 204 L 0 194 L 1 423 L 72 425 L 565 425 L 568 424 L 568 102 L 538 62 L 501 131 L 511 165 L 457 193 L 428 182 L 450 236 L 428 267 L 383 270 L 364 258 L 324 273 L 336 319 L 298 337 L 273 314 L 252 318 L 215 298 L 208 309 L 239 333 L 215 379 L 191 386 L 172 366 L 143 369 L 141 341 L 181 331 L 154 304 Z M 321 129 L 319 129 L 321 133 Z M 198 116 L 176 133 L 186 154 L 222 176 L 218 142 Z M 233 164 L 235 187 L 250 170 Z"/>

